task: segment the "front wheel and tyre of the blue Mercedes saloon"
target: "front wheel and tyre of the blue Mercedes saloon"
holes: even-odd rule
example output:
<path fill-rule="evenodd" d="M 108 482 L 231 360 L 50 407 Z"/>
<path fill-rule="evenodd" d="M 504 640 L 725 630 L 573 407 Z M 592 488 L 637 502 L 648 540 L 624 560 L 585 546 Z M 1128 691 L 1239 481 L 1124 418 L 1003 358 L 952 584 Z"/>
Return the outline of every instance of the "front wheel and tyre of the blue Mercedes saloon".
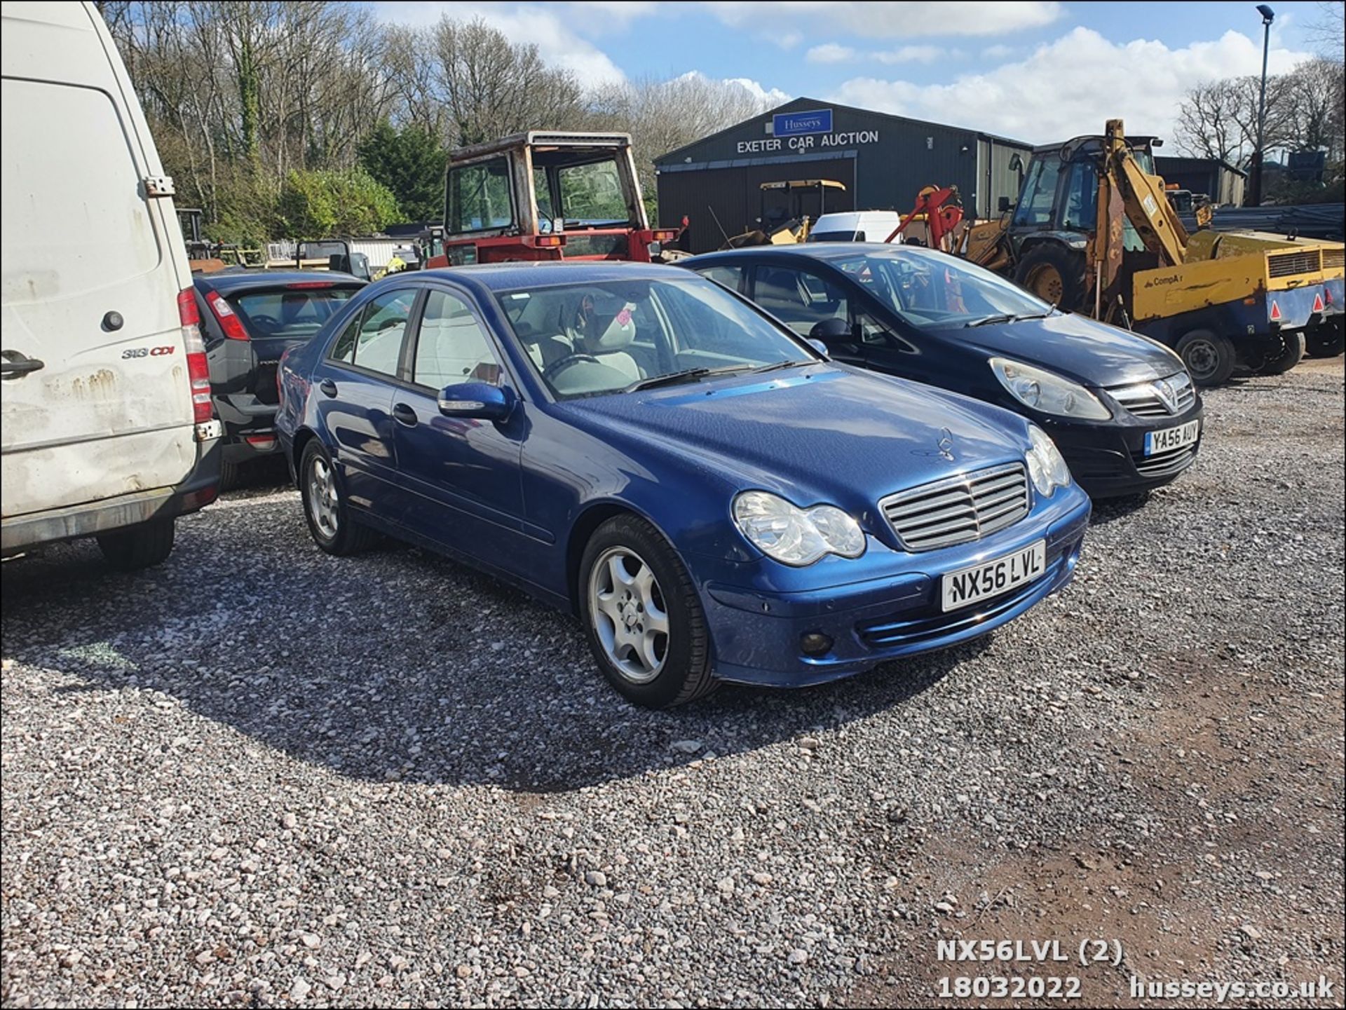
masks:
<path fill-rule="evenodd" d="M 647 522 L 619 515 L 599 526 L 584 547 L 577 589 L 594 659 L 629 701 L 666 709 L 717 686 L 696 586 Z"/>

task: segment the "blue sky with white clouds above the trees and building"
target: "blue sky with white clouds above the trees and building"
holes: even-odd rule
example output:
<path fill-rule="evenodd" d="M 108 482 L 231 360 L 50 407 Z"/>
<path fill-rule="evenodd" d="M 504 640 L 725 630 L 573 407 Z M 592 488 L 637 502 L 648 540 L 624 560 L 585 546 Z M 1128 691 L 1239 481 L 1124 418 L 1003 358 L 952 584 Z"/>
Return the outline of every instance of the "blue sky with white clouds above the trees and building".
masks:
<path fill-rule="evenodd" d="M 1320 48 L 1318 3 L 1276 0 L 1271 73 Z M 481 16 L 586 83 L 701 73 L 1030 143 L 1171 137 L 1193 85 L 1261 71 L 1253 3 L 378 3 L 385 20 Z"/>

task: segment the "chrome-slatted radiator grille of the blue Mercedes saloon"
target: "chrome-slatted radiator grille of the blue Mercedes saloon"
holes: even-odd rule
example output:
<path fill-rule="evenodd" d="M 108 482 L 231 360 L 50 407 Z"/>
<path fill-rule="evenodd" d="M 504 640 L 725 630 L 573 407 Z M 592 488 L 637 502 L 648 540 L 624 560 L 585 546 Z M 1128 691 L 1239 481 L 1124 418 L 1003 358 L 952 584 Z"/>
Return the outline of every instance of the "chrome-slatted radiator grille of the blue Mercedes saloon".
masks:
<path fill-rule="evenodd" d="M 1028 472 L 1022 463 L 962 473 L 879 502 L 910 551 L 979 541 L 1028 514 Z"/>

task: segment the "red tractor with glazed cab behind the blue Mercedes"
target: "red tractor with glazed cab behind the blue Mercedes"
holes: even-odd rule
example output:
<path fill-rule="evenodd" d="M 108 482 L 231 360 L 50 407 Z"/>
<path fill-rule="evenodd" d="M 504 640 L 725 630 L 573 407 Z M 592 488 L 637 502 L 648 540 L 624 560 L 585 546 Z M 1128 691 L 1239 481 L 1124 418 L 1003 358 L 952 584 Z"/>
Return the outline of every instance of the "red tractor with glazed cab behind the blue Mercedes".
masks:
<path fill-rule="evenodd" d="M 425 266 L 511 260 L 660 262 L 680 229 L 651 229 L 627 133 L 529 130 L 448 155 L 444 233 Z"/>

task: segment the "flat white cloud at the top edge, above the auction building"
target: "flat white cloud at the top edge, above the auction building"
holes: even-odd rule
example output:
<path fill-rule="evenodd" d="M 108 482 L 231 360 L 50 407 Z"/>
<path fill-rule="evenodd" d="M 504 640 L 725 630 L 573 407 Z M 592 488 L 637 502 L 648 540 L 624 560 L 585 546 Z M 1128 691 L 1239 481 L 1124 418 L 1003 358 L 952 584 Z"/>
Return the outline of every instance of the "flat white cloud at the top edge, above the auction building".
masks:
<path fill-rule="evenodd" d="M 989 3 L 882 3 L 859 0 L 816 3 L 775 0 L 765 7 L 755 0 L 723 0 L 707 7 L 725 24 L 756 27 L 763 9 L 775 24 L 822 23 L 833 31 L 863 38 L 909 39 L 922 35 L 1000 35 L 1020 28 L 1040 28 L 1061 16 L 1059 3 L 989 0 Z"/>

